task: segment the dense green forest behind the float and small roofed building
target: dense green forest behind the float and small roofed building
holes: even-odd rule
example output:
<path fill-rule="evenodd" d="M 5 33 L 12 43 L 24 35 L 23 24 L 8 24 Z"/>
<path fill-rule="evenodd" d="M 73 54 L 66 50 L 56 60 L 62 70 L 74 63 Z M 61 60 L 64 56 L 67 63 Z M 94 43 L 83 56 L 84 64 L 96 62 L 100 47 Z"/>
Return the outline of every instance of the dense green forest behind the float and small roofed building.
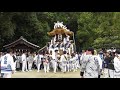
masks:
<path fill-rule="evenodd" d="M 74 32 L 77 51 L 120 46 L 120 12 L 0 12 L 0 50 L 20 36 L 43 47 L 57 21 Z"/>

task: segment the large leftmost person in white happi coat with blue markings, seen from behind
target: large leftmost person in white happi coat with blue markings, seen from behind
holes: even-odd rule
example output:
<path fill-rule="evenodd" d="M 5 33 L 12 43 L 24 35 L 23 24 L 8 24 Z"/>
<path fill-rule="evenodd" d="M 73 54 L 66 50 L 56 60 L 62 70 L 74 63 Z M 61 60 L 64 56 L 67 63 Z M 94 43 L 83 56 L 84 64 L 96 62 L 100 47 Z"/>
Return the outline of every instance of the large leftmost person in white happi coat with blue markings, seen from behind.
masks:
<path fill-rule="evenodd" d="M 3 74 L 3 78 L 11 78 L 14 72 L 15 66 L 12 51 L 8 50 L 7 54 L 1 57 L 1 74 Z"/>

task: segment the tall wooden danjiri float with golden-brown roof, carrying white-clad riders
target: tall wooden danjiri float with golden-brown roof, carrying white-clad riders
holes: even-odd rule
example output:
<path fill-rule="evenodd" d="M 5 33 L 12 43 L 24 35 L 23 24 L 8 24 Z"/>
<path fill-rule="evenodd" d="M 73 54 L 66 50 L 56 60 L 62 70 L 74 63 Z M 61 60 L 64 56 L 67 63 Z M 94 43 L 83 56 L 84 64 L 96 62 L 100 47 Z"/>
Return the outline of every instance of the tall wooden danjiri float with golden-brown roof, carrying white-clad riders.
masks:
<path fill-rule="evenodd" d="M 48 51 L 58 50 L 60 55 L 63 51 L 71 54 L 75 52 L 74 32 L 67 29 L 63 22 L 54 23 L 54 29 L 47 32 L 52 37 L 48 45 Z"/>

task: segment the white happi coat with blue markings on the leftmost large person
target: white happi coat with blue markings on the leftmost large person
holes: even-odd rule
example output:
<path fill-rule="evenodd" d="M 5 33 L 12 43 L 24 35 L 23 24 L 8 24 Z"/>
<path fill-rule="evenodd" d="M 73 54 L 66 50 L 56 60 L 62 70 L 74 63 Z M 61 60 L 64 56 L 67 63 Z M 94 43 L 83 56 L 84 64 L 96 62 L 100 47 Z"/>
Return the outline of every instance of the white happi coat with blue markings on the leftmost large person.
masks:
<path fill-rule="evenodd" d="M 15 70 L 13 57 L 10 54 L 6 54 L 1 57 L 1 73 L 12 73 Z"/>

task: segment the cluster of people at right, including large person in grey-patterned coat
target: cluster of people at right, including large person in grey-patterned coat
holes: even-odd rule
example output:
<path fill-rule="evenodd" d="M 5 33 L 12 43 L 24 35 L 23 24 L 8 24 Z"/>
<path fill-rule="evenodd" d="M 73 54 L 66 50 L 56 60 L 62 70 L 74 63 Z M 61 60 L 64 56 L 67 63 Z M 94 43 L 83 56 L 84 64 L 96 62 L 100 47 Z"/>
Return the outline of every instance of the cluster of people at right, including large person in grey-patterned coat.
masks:
<path fill-rule="evenodd" d="M 80 76 L 83 78 L 120 78 L 120 50 L 89 48 L 81 55 Z"/>

